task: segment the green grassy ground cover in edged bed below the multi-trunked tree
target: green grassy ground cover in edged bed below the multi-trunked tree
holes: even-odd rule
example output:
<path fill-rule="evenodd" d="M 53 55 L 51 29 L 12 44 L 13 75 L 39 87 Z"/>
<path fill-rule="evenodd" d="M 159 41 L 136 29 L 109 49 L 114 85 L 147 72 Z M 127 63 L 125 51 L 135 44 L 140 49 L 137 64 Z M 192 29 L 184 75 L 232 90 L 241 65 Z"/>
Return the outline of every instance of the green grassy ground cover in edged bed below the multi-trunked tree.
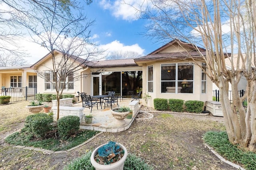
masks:
<path fill-rule="evenodd" d="M 204 134 L 203 139 L 216 152 L 231 162 L 244 165 L 246 170 L 256 169 L 256 154 L 243 150 L 239 145 L 232 145 L 228 141 L 226 131 L 209 131 Z"/>

